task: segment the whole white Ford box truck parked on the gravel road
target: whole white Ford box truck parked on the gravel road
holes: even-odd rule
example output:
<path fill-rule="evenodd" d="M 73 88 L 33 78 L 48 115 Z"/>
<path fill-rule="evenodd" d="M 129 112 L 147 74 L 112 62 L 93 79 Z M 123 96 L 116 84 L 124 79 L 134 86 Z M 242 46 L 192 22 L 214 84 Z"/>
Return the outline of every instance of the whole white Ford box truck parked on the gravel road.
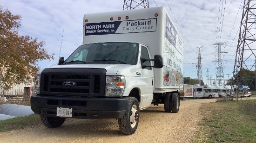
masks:
<path fill-rule="evenodd" d="M 85 14 L 83 45 L 36 73 L 31 109 L 49 128 L 66 118 L 117 118 L 133 134 L 140 110 L 179 111 L 183 40 L 164 7 Z"/>

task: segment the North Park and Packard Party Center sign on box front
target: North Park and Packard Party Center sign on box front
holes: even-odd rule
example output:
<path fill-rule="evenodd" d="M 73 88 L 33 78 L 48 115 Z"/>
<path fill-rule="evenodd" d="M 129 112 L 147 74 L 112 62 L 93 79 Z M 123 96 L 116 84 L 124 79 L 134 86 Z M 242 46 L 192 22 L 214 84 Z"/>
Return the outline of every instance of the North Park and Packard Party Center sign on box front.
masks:
<path fill-rule="evenodd" d="M 155 19 L 86 23 L 85 36 L 156 31 Z"/>

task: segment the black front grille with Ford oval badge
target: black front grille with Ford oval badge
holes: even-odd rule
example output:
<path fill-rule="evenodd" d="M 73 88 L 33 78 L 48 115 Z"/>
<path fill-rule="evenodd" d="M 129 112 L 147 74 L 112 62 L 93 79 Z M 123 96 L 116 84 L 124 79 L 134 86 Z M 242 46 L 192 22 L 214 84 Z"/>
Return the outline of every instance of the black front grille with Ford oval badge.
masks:
<path fill-rule="evenodd" d="M 105 69 L 44 69 L 41 73 L 40 94 L 105 96 L 105 76 Z"/>

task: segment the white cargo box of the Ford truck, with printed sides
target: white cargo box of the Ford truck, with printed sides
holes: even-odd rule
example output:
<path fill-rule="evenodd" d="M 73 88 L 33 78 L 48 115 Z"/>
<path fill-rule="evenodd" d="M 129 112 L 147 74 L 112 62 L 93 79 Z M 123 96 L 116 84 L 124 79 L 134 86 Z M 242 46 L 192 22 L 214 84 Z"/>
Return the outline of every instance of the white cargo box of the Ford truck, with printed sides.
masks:
<path fill-rule="evenodd" d="M 154 93 L 183 87 L 183 40 L 164 7 L 85 14 L 83 27 L 83 44 L 135 42 L 147 45 L 151 58 L 162 55 L 163 68 L 154 68 Z"/>

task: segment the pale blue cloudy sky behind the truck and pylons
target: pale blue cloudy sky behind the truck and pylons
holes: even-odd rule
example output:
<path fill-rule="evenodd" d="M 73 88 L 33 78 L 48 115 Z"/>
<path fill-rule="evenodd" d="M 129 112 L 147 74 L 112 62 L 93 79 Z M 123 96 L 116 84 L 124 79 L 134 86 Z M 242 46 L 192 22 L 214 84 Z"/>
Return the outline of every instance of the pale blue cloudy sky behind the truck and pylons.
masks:
<path fill-rule="evenodd" d="M 126 0 L 128 1 L 128 0 Z M 140 1 L 140 0 L 137 0 Z M 244 0 L 148 0 L 149 7 L 164 6 L 184 40 L 184 77 L 197 78 L 198 47 L 201 47 L 202 79 L 216 78 L 216 43 L 222 47 L 224 79 L 231 78 L 236 58 Z M 65 59 L 82 44 L 85 13 L 120 11 L 124 0 L 1 0 L 0 6 L 20 15 L 20 35 L 46 42 L 54 53 L 51 65 Z M 40 61 L 49 67 L 49 60 Z M 208 72 L 207 72 L 208 71 Z M 213 82 L 213 81 L 211 81 Z M 211 83 L 210 82 L 210 83 Z M 184 83 L 186 84 L 186 83 Z"/>

